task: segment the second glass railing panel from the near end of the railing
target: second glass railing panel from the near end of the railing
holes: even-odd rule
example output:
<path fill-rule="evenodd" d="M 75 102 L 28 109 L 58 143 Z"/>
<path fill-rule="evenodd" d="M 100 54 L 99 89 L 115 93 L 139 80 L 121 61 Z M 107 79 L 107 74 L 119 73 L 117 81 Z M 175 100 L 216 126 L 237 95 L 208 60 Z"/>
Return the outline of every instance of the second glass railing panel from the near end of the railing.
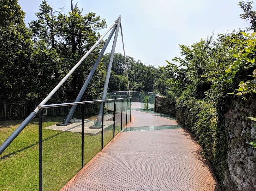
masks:
<path fill-rule="evenodd" d="M 103 104 L 103 102 L 101 103 Z M 101 103 L 84 104 L 84 165 L 86 165 L 101 150 Z"/>

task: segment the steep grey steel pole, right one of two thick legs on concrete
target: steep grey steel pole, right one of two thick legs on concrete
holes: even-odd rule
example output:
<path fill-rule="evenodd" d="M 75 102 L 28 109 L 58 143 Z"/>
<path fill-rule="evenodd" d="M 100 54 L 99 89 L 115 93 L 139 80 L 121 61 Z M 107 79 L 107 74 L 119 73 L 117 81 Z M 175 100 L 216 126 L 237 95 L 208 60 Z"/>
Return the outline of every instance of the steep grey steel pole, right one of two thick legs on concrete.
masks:
<path fill-rule="evenodd" d="M 110 72 L 111 72 L 112 63 L 113 63 L 113 59 L 114 59 L 114 54 L 115 54 L 115 49 L 116 49 L 116 41 L 117 41 L 117 37 L 118 37 L 118 31 L 120 29 L 120 23 L 121 23 L 121 16 L 118 17 L 118 21 L 117 21 L 116 33 L 115 33 L 115 37 L 114 37 L 114 41 L 113 41 L 113 45 L 112 45 L 112 49 L 111 49 L 111 53 L 110 53 L 110 60 L 109 60 L 109 65 L 108 65 L 108 69 L 107 69 L 107 74 L 106 74 L 106 79 L 105 79 L 105 83 L 104 83 L 104 88 L 103 88 L 101 100 L 104 100 L 106 98 L 106 95 L 107 95 Z M 100 106 L 102 106 L 102 102 L 100 103 Z M 100 119 L 101 109 L 99 110 L 98 116 L 99 117 L 98 117 L 97 122 L 95 124 L 96 126 L 99 126 L 100 122 L 101 122 L 101 119 Z"/>

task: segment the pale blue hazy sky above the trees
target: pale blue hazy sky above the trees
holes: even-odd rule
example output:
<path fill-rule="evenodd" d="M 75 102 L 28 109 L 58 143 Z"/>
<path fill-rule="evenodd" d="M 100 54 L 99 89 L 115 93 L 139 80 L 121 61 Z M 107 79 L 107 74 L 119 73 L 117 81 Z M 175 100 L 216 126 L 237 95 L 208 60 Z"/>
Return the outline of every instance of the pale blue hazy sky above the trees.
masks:
<path fill-rule="evenodd" d="M 36 20 L 41 0 L 19 0 L 26 12 L 25 22 Z M 65 13 L 70 11 L 70 0 L 48 0 L 54 8 L 66 5 Z M 191 45 L 201 38 L 207 38 L 214 31 L 217 36 L 223 31 L 244 29 L 248 21 L 239 18 L 242 10 L 238 0 L 74 0 L 83 13 L 94 12 L 106 19 L 110 26 L 119 15 L 126 55 L 144 64 L 155 67 L 166 66 L 180 56 L 179 44 Z M 253 4 L 254 6 L 254 4 Z M 100 33 L 103 34 L 104 30 Z M 119 33 L 116 52 L 122 51 Z M 112 44 L 112 43 L 111 43 Z M 111 51 L 111 46 L 106 52 Z"/>

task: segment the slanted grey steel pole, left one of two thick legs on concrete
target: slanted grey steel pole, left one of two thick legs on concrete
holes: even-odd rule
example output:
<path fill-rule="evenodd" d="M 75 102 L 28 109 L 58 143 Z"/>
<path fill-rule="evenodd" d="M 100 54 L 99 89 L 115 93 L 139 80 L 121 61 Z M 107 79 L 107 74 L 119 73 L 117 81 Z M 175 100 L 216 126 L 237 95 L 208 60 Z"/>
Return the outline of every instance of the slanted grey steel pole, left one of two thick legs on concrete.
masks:
<path fill-rule="evenodd" d="M 96 68 L 98 67 L 98 64 L 99 64 L 99 62 L 100 62 L 100 60 L 101 60 L 101 58 L 102 58 L 102 56 L 103 56 L 103 54 L 104 54 L 104 52 L 105 52 L 105 50 L 106 50 L 106 48 L 107 48 L 107 46 L 108 46 L 108 44 L 109 44 L 111 38 L 112 38 L 112 36 L 113 36 L 115 30 L 116 30 L 116 25 L 113 27 L 113 29 L 112 29 L 112 31 L 111 31 L 111 33 L 110 33 L 110 35 L 109 35 L 109 37 L 108 37 L 106 43 L 104 44 L 102 50 L 101 50 L 100 53 L 99 53 L 99 56 L 98 56 L 96 62 L 94 63 L 94 65 L 93 65 L 93 67 L 92 67 L 92 70 L 91 70 L 90 73 L 88 74 L 88 76 L 87 76 L 87 78 L 86 78 L 86 80 L 85 80 L 85 83 L 84 83 L 83 87 L 81 88 L 81 90 L 80 90 L 79 94 L 77 95 L 77 97 L 76 97 L 76 99 L 75 99 L 74 102 L 79 102 L 79 101 L 81 100 L 81 98 L 82 98 L 82 96 L 83 96 L 83 94 L 84 94 L 84 92 L 85 92 L 85 90 L 86 90 L 86 88 L 87 88 L 87 86 L 88 86 L 90 80 L 92 79 L 92 75 L 94 74 Z M 76 107 L 77 107 L 77 105 L 73 105 L 73 106 L 71 107 L 70 111 L 68 112 L 67 117 L 66 117 L 66 118 L 64 119 L 64 121 L 63 121 L 63 124 L 69 123 L 71 117 L 73 116 L 73 114 L 74 114 L 74 112 L 75 112 Z"/>

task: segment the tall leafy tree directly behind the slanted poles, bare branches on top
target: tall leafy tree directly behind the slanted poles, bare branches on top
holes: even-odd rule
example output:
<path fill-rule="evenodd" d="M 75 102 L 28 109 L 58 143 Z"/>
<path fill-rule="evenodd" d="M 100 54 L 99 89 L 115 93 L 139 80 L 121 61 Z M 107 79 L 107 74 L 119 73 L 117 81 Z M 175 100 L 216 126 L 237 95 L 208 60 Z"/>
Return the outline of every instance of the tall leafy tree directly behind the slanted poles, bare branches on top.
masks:
<path fill-rule="evenodd" d="M 57 37 L 60 41 L 58 48 L 62 57 L 65 58 L 64 63 L 67 68 L 72 68 L 84 55 L 84 52 L 87 52 L 96 43 L 100 37 L 96 30 L 106 27 L 105 19 L 100 19 L 95 13 L 88 13 L 82 16 L 82 11 L 80 11 L 77 6 L 72 8 L 73 4 L 71 5 L 71 12 L 69 12 L 68 15 L 59 14 L 57 18 Z M 102 46 L 103 43 L 100 43 L 72 74 L 72 79 L 69 81 L 68 87 L 66 87 L 68 98 L 73 100 L 79 93 Z M 102 67 L 99 68 L 103 69 Z M 103 71 L 96 70 L 94 75 L 98 76 L 102 72 Z M 100 80 L 104 82 L 104 78 Z M 94 83 L 94 81 L 91 80 L 89 86 L 99 87 L 101 84 L 102 82 Z M 87 90 L 93 90 L 92 87 L 88 87 Z"/>

